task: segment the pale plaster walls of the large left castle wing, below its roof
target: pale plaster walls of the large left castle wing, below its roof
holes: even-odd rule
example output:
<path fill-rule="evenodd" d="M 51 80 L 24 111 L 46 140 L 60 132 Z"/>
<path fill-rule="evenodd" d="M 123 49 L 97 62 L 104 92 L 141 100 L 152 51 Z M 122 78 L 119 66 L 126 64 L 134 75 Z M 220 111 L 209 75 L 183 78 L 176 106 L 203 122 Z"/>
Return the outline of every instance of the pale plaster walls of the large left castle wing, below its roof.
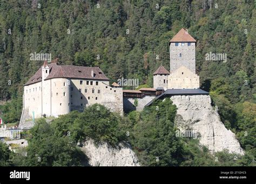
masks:
<path fill-rule="evenodd" d="M 41 118 L 43 115 L 58 117 L 72 110 L 83 111 L 86 106 L 95 103 L 123 114 L 123 88 L 110 86 L 109 79 L 46 79 L 50 72 L 49 66 L 44 65 L 42 80 L 24 86 L 21 121 L 25 122 L 23 117 L 32 120 L 33 115 L 35 118 Z"/>

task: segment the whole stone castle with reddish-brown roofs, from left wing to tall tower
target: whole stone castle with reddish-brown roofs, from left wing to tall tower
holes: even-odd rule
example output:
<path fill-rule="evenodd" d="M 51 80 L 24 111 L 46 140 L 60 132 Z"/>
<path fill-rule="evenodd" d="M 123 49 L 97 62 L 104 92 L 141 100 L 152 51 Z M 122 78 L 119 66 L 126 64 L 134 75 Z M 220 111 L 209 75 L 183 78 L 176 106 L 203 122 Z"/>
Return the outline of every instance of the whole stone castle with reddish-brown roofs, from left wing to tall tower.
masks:
<path fill-rule="evenodd" d="M 153 73 L 153 88 L 140 90 L 123 90 L 117 83 L 110 85 L 109 78 L 99 67 L 57 65 L 45 61 L 24 85 L 20 128 L 29 128 L 24 125 L 31 119 L 58 117 L 72 110 L 83 111 L 95 103 L 123 114 L 123 111 L 142 110 L 153 99 L 168 94 L 208 94 L 199 88 L 196 40 L 181 29 L 170 40 L 169 46 L 170 72 L 160 66 Z"/>

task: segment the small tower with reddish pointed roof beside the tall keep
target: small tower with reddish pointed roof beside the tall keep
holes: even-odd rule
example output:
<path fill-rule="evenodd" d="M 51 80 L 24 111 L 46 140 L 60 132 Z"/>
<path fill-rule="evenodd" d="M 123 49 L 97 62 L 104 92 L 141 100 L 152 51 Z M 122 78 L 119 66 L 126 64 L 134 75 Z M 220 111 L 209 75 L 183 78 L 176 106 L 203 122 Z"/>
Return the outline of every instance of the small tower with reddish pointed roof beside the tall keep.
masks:
<path fill-rule="evenodd" d="M 153 73 L 154 88 L 163 87 L 166 90 L 168 88 L 168 76 L 169 76 L 169 72 L 164 68 L 164 66 L 160 66 Z"/>

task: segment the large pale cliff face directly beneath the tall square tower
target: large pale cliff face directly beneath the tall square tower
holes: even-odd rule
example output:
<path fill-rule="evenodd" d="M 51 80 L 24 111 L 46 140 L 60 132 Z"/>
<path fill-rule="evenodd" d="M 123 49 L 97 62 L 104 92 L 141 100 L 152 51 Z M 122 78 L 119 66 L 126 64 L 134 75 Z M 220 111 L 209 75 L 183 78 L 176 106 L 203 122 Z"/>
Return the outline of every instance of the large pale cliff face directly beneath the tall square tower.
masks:
<path fill-rule="evenodd" d="M 181 131 L 199 133 L 200 144 L 211 152 L 227 149 L 230 153 L 244 154 L 235 134 L 226 129 L 218 112 L 213 110 L 210 96 L 172 96 L 171 100 L 178 108 L 176 124 Z"/>

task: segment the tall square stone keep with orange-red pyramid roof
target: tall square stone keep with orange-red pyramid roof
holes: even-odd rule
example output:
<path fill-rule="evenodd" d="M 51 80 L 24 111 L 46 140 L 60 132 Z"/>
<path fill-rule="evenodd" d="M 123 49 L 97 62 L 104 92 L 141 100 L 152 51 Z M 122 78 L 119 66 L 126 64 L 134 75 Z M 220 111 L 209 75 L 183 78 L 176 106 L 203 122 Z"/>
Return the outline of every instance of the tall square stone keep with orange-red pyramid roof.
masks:
<path fill-rule="evenodd" d="M 168 88 L 199 88 L 199 76 L 196 74 L 196 42 L 184 29 L 170 40 Z"/>

